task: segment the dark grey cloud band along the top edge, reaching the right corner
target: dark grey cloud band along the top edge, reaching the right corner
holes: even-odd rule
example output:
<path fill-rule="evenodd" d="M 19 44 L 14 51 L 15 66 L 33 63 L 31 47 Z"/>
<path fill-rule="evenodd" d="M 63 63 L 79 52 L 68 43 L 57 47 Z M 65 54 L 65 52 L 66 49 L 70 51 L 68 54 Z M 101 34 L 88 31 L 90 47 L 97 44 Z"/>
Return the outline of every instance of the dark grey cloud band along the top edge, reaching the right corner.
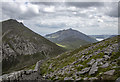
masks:
<path fill-rule="evenodd" d="M 56 8 L 57 6 L 66 6 L 66 7 L 75 6 L 77 8 L 84 8 L 84 9 L 89 8 L 89 7 L 96 7 L 98 9 L 101 9 L 107 6 L 109 7 L 109 10 L 105 10 L 105 11 L 100 10 L 100 11 L 111 17 L 120 16 L 120 13 L 118 12 L 118 6 L 115 5 L 115 4 L 118 5 L 118 2 L 32 2 L 32 3 L 37 4 L 37 5 L 40 5 L 40 4 L 46 5 L 46 6 L 52 5 L 52 6 L 56 6 Z"/>

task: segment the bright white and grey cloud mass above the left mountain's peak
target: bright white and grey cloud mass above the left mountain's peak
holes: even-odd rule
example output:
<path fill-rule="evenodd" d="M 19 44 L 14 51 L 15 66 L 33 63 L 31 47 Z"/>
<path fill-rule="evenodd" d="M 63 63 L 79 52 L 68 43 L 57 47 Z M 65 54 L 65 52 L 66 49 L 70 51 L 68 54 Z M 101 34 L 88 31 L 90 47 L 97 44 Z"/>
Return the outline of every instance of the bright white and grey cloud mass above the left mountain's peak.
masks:
<path fill-rule="evenodd" d="M 39 14 L 39 6 L 24 2 L 3 2 L 2 13 L 10 18 L 30 19 Z"/>

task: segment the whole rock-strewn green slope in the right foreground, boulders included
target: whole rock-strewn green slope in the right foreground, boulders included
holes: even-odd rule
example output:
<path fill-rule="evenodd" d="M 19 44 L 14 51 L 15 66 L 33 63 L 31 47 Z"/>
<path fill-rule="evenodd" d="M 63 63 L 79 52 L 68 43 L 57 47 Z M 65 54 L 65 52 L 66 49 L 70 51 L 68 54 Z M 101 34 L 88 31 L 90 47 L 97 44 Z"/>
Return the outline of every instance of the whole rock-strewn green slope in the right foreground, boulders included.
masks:
<path fill-rule="evenodd" d="M 115 82 L 120 80 L 119 43 L 120 36 L 115 36 L 63 53 L 45 61 L 41 74 L 45 80 Z"/>

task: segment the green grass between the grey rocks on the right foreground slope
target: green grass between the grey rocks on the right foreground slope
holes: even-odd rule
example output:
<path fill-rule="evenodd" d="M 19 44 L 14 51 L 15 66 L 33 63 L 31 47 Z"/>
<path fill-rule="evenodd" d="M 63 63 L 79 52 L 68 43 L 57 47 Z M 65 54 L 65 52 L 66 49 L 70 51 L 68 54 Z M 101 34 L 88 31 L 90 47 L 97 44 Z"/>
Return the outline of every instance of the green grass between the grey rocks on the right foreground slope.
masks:
<path fill-rule="evenodd" d="M 119 38 L 120 38 L 120 36 L 119 36 Z M 105 47 L 107 47 L 107 46 L 108 46 L 109 44 L 111 44 L 111 43 L 112 43 L 112 44 L 117 43 L 117 42 L 118 42 L 118 37 L 113 37 L 112 39 L 107 39 L 107 40 L 104 40 L 104 41 L 102 41 L 102 42 L 104 42 L 105 45 L 99 45 L 98 47 L 93 48 L 93 50 L 89 50 L 89 51 L 88 51 L 88 54 L 91 54 L 91 53 L 93 53 L 94 51 L 96 51 L 96 50 L 98 50 L 98 49 L 105 48 Z M 87 45 L 87 46 L 84 46 L 84 47 L 80 47 L 80 48 L 78 48 L 78 49 L 76 49 L 76 50 L 73 50 L 73 51 L 71 51 L 71 52 L 66 52 L 66 53 L 64 53 L 64 54 L 61 54 L 61 55 L 58 56 L 58 57 L 49 59 L 48 61 L 45 61 L 45 62 L 42 64 L 41 68 L 40 68 L 42 75 L 44 75 L 44 74 L 46 74 L 46 73 L 54 72 L 55 70 L 59 70 L 60 68 L 63 68 L 63 67 L 65 67 L 65 66 L 73 63 L 75 60 L 77 60 L 77 59 L 79 59 L 79 58 L 82 57 L 82 55 L 79 55 L 78 52 L 86 49 L 86 48 L 89 47 L 89 46 L 96 45 L 96 44 L 98 44 L 98 43 L 100 43 L 100 42 L 97 42 L 97 43 L 94 43 L 94 44 L 91 44 L 91 45 Z M 88 55 L 88 54 L 86 54 L 86 55 Z M 78 57 L 76 57 L 76 55 L 77 55 Z M 103 53 L 99 53 L 98 55 L 92 56 L 90 59 L 88 59 L 88 60 L 86 60 L 86 61 L 78 62 L 76 65 L 82 64 L 82 65 L 84 65 L 84 67 L 82 67 L 82 68 L 85 68 L 85 67 L 88 67 L 88 65 L 86 65 L 86 63 L 88 63 L 91 59 L 102 58 L 103 56 L 104 56 Z M 118 58 L 119 56 L 120 56 L 120 52 L 112 53 L 112 57 L 110 58 L 110 60 L 112 61 L 112 60 Z M 116 62 L 117 62 L 117 64 L 120 66 L 120 61 L 118 60 L 118 61 L 116 61 Z M 53 66 L 52 69 L 48 69 L 49 66 L 50 66 L 50 64 L 52 64 L 52 66 Z M 117 66 L 117 65 L 114 65 L 114 66 Z M 78 71 L 80 71 L 82 68 L 81 68 L 81 67 L 74 67 L 74 69 L 77 69 Z M 114 76 L 108 77 L 108 78 L 106 78 L 106 76 L 103 75 L 103 77 L 104 77 L 105 79 L 116 79 L 117 77 L 120 77 L 120 75 L 119 75 L 120 72 L 118 71 L 119 69 L 118 69 L 118 68 L 111 68 L 111 66 L 109 66 L 109 67 L 107 67 L 107 68 L 99 69 L 98 72 L 97 72 L 94 76 L 96 76 L 96 77 L 99 78 L 99 73 L 105 72 L 105 71 L 110 70 L 110 69 L 115 69 L 117 72 L 115 72 L 115 75 L 114 75 Z M 74 73 L 74 71 L 72 71 L 72 72 Z M 63 76 L 61 76 L 61 75 L 58 75 L 58 76 L 61 77 L 61 78 L 59 78 L 59 79 L 63 79 L 63 78 L 66 77 L 66 76 L 68 76 L 68 77 L 69 77 L 69 76 L 72 76 L 72 73 L 71 73 L 71 75 L 70 75 L 70 74 L 65 74 L 65 75 L 63 75 Z M 86 77 L 86 76 L 87 76 L 87 77 L 94 77 L 94 76 L 89 76 L 88 74 L 85 74 L 85 75 L 83 75 L 83 76 L 81 75 L 80 77 L 84 78 L 84 77 Z M 52 79 L 52 80 L 53 80 L 54 78 L 55 78 L 55 77 L 52 77 L 52 78 L 49 78 L 49 79 Z"/>

